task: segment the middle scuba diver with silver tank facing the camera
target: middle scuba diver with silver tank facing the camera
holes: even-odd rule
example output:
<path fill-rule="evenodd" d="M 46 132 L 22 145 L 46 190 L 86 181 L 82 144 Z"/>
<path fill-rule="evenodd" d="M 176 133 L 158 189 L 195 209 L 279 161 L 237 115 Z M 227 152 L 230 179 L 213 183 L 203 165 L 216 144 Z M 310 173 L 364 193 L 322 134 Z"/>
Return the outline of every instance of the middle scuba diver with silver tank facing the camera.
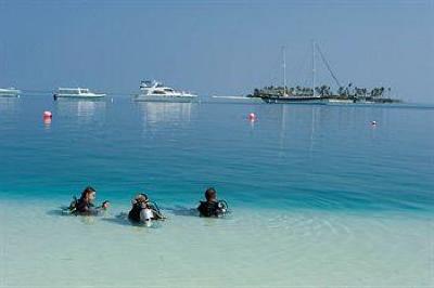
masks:
<path fill-rule="evenodd" d="M 152 220 L 165 220 L 166 218 L 161 213 L 158 206 L 150 201 L 148 195 L 144 193 L 138 194 L 131 200 L 131 210 L 128 213 L 128 219 L 136 224 L 146 224 L 150 226 Z"/>

